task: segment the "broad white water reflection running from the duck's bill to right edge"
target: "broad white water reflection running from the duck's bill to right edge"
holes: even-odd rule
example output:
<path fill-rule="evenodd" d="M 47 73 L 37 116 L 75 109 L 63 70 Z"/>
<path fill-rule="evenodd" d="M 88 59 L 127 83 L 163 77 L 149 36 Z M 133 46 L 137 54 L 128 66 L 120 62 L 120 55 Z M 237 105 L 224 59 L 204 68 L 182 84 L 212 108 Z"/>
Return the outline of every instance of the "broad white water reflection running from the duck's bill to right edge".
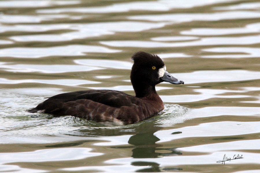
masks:
<path fill-rule="evenodd" d="M 185 84 L 195 84 L 256 80 L 260 79 L 260 72 L 247 70 L 202 70 L 190 73 L 172 73 L 172 76 L 183 80 Z"/>

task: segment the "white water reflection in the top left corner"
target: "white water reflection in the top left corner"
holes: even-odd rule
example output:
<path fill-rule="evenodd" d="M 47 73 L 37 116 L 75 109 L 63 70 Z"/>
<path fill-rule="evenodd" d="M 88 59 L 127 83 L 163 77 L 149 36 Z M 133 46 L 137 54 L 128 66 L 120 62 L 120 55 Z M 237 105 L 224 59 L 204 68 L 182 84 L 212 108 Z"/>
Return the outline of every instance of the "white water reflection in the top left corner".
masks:
<path fill-rule="evenodd" d="M 34 8 L 51 7 L 55 5 L 79 4 L 80 0 L 4 0 L 0 1 L 1 8 Z"/>

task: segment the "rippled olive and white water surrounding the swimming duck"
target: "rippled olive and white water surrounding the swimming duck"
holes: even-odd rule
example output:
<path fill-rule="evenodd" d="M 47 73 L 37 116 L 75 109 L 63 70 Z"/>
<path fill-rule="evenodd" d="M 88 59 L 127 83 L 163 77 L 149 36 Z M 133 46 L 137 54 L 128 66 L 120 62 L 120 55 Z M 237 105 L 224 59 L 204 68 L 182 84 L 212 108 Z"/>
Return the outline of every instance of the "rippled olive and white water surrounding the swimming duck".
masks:
<path fill-rule="evenodd" d="M 257 0 L 1 0 L 0 172 L 259 172 L 259 46 Z M 25 112 L 69 91 L 133 95 L 140 50 L 185 81 L 157 86 L 157 116 Z"/>

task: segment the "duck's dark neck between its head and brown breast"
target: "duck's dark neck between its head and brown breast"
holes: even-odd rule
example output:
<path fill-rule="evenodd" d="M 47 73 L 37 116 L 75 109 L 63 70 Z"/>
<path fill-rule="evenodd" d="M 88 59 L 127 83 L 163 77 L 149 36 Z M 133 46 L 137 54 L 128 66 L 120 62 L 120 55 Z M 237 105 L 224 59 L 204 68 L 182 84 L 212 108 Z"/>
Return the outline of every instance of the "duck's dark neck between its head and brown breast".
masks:
<path fill-rule="evenodd" d="M 145 83 L 139 83 L 138 85 L 133 84 L 135 90 L 135 97 L 147 99 L 147 100 L 157 100 L 161 101 L 161 98 L 155 90 L 155 85 L 149 85 Z"/>

